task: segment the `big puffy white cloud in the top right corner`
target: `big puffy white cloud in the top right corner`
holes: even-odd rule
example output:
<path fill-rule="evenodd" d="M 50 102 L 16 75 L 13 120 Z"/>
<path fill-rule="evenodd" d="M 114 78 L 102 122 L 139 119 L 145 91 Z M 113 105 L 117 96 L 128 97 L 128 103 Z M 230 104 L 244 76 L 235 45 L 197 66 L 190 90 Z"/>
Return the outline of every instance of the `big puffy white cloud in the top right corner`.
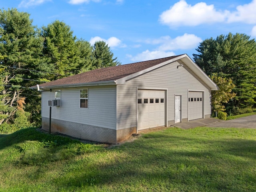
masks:
<path fill-rule="evenodd" d="M 214 5 L 200 2 L 195 5 L 188 4 L 185 0 L 175 3 L 170 9 L 162 12 L 159 21 L 171 28 L 178 26 L 198 26 L 212 23 L 243 22 L 256 24 L 256 0 L 236 7 L 236 11 L 216 10 Z"/>

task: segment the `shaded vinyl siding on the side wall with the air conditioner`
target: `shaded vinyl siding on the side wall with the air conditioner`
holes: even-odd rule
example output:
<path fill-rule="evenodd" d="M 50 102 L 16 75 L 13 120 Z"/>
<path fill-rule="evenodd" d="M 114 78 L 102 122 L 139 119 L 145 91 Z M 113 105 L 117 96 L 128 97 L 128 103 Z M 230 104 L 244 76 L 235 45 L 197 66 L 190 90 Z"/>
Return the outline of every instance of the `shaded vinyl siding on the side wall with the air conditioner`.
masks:
<path fill-rule="evenodd" d="M 116 86 L 88 88 L 88 109 L 80 108 L 80 89 L 62 88 L 61 107 L 52 107 L 52 118 L 116 129 Z M 49 118 L 48 100 L 54 92 L 42 92 L 42 117 Z"/>

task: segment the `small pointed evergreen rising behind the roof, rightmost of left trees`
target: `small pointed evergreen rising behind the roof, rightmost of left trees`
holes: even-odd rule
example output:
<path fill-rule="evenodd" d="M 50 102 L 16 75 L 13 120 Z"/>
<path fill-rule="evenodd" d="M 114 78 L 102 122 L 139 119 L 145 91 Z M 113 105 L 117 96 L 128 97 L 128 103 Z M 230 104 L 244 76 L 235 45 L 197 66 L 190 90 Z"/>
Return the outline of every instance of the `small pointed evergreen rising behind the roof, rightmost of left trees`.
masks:
<path fill-rule="evenodd" d="M 108 47 L 108 44 L 104 41 L 97 41 L 94 43 L 92 55 L 94 58 L 93 68 L 104 68 L 110 66 L 120 65 L 121 63 L 117 60 L 117 57 L 113 58 L 114 54 Z"/>

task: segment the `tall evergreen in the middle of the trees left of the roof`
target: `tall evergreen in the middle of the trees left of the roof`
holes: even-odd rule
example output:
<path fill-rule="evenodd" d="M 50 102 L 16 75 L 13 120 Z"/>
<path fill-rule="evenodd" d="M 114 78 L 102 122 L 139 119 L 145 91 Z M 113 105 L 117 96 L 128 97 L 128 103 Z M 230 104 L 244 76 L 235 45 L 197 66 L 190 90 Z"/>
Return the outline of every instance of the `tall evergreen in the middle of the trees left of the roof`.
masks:
<path fill-rule="evenodd" d="M 76 36 L 70 26 L 58 20 L 47 27 L 42 28 L 44 37 L 44 56 L 47 58 L 46 64 L 41 66 L 42 71 L 72 75 L 78 67 L 78 54 L 75 46 Z M 55 80 L 63 76 L 48 74 L 49 80 Z"/>

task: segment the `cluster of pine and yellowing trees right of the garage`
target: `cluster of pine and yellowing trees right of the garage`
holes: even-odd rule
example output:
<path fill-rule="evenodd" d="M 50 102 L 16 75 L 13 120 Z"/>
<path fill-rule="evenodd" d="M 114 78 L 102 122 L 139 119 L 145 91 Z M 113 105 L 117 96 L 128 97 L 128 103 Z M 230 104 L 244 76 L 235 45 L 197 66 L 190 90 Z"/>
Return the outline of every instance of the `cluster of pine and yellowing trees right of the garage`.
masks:
<path fill-rule="evenodd" d="M 256 42 L 246 34 L 220 35 L 200 43 L 196 64 L 220 87 L 212 92 L 214 112 L 242 114 L 256 107 Z"/>

